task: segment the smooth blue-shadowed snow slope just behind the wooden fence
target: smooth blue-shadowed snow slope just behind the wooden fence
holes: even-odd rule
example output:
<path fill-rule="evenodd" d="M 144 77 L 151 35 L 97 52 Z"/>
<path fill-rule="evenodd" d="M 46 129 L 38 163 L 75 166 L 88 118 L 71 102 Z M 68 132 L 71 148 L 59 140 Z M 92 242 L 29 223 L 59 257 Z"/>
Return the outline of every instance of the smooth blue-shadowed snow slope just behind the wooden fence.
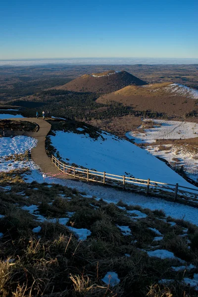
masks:
<path fill-rule="evenodd" d="M 135 178 L 149 178 L 193 188 L 148 151 L 109 133 L 101 132 L 98 139 L 83 133 L 84 131 L 79 130 L 76 133 L 56 131 L 55 136 L 50 136 L 52 146 L 58 150 L 65 162 L 101 172 L 132 175 Z"/>

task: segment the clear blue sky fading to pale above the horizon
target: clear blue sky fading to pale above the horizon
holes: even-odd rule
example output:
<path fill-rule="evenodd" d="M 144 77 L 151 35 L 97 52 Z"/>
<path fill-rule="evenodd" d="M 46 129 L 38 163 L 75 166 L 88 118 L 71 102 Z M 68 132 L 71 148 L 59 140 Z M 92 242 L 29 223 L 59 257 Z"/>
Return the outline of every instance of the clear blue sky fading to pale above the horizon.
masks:
<path fill-rule="evenodd" d="M 198 58 L 197 0 L 2 0 L 0 59 Z"/>

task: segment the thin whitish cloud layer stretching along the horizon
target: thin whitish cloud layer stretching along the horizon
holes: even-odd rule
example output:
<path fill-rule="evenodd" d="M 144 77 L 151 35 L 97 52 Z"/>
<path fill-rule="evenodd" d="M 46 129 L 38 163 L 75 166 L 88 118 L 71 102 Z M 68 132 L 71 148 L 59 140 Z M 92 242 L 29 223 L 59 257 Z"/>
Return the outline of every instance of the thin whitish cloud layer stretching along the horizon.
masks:
<path fill-rule="evenodd" d="M 69 65 L 135 65 L 135 64 L 198 64 L 198 59 L 178 58 L 46 58 L 0 60 L 0 66 Z"/>

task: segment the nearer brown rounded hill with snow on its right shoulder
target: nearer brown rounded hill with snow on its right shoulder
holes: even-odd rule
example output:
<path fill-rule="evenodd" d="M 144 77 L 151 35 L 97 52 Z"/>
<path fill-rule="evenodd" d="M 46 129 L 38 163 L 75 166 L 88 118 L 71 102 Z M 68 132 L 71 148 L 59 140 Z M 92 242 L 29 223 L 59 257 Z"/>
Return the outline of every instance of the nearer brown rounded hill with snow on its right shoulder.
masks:
<path fill-rule="evenodd" d="M 127 86 L 97 99 L 104 104 L 112 101 L 131 106 L 134 110 L 162 112 L 168 116 L 183 116 L 192 112 L 196 116 L 198 113 L 198 91 L 171 82 Z"/>

